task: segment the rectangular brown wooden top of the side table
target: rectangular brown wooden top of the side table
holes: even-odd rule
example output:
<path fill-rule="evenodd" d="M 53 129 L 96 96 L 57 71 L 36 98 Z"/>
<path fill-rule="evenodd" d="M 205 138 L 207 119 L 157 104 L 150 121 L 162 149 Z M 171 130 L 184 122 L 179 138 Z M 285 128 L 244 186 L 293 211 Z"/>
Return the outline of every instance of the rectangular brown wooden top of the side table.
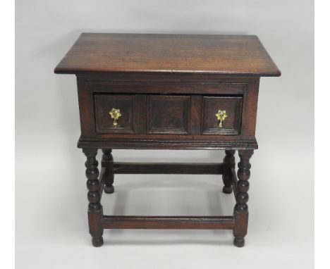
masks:
<path fill-rule="evenodd" d="M 281 75 L 255 35 L 82 33 L 54 72 Z"/>

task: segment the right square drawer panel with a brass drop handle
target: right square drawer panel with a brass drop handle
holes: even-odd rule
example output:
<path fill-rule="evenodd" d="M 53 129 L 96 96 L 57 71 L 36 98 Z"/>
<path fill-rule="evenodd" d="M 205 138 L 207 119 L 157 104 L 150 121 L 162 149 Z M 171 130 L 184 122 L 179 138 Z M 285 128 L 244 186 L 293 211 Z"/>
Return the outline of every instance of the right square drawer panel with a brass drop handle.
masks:
<path fill-rule="evenodd" d="M 202 134 L 240 134 L 242 96 L 203 96 Z"/>

